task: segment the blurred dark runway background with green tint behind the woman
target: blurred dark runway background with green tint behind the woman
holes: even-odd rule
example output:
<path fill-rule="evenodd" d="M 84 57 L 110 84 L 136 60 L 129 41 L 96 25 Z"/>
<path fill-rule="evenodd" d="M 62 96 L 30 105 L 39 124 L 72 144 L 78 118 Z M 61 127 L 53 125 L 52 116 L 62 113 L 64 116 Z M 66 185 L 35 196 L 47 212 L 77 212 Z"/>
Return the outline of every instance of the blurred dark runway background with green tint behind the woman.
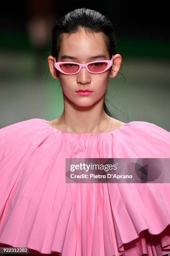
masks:
<path fill-rule="evenodd" d="M 3 1 L 0 127 L 61 115 L 60 82 L 48 74 L 51 31 L 55 19 L 83 7 L 106 15 L 115 28 L 122 67 L 121 74 L 109 82 L 111 112 L 123 122 L 143 120 L 170 131 L 170 33 L 165 1 Z"/>

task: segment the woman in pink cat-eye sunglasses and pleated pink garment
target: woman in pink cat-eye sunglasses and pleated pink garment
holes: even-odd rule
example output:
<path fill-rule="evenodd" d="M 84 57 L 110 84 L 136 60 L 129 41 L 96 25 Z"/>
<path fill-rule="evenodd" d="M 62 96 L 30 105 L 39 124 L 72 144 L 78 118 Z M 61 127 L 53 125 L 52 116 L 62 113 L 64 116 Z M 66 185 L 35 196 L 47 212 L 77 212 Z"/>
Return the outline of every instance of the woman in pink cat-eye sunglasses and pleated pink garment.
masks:
<path fill-rule="evenodd" d="M 0 243 L 62 256 L 170 253 L 169 184 L 65 182 L 67 158 L 170 158 L 168 131 L 110 116 L 105 92 L 121 61 L 102 14 L 82 8 L 55 23 L 48 63 L 64 111 L 1 129 Z"/>

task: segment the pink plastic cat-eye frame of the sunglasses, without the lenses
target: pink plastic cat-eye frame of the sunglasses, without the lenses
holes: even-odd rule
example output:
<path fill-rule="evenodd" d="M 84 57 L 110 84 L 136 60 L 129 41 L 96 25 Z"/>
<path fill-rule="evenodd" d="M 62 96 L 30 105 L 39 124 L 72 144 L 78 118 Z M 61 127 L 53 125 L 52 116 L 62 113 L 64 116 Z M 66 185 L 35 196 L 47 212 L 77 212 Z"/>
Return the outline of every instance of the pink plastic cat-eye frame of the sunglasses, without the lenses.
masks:
<path fill-rule="evenodd" d="M 107 69 L 109 69 L 109 68 L 112 66 L 112 64 L 113 64 L 113 56 L 114 56 L 114 55 L 112 55 L 112 59 L 111 59 L 111 60 L 92 61 L 92 62 L 88 62 L 88 63 L 86 63 L 86 64 L 81 64 L 81 63 L 77 63 L 77 62 L 66 62 L 66 61 L 57 62 L 56 59 L 55 59 L 55 57 L 54 57 L 54 61 L 55 61 L 54 66 L 55 66 L 55 68 L 56 68 L 57 70 L 59 70 L 59 71 L 62 72 L 63 74 L 69 74 L 69 75 L 70 75 L 70 73 L 65 73 L 64 71 L 62 71 L 62 69 L 60 69 L 60 64 L 64 64 L 64 63 L 77 64 L 77 65 L 79 65 L 78 71 L 75 72 L 75 73 L 72 73 L 72 74 L 77 74 L 78 72 L 80 72 L 80 70 L 82 69 L 82 67 L 85 67 L 85 68 L 87 69 L 87 71 L 90 72 L 90 73 L 92 73 L 92 74 L 100 74 L 100 73 L 105 72 Z M 97 72 L 97 73 L 96 73 L 96 72 L 91 72 L 91 71 L 88 69 L 88 65 L 91 64 L 91 63 L 96 63 L 96 62 L 107 62 L 107 67 L 106 67 L 102 72 Z"/>

